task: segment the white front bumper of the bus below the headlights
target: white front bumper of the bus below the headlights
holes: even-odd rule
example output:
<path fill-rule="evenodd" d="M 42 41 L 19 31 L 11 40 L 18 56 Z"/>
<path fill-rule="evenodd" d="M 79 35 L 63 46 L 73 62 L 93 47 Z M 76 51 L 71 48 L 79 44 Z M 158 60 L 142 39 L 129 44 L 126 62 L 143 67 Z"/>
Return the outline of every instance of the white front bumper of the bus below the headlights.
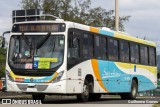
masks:
<path fill-rule="evenodd" d="M 66 94 L 66 80 L 57 83 L 7 83 L 8 92 Z"/>

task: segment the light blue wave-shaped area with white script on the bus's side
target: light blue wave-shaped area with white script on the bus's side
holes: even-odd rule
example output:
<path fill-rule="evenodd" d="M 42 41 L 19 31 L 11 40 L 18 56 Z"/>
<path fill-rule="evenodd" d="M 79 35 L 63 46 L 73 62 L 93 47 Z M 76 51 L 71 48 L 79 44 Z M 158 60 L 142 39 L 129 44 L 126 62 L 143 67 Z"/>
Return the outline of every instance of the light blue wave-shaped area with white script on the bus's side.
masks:
<path fill-rule="evenodd" d="M 126 74 L 120 70 L 112 61 L 99 60 L 98 69 L 100 72 L 101 80 L 109 92 L 130 92 L 131 82 L 129 82 L 129 80 L 132 79 L 133 76 L 137 77 L 140 81 L 145 81 L 139 83 L 138 91 L 145 91 L 156 88 L 156 86 L 149 78 L 143 75 Z"/>

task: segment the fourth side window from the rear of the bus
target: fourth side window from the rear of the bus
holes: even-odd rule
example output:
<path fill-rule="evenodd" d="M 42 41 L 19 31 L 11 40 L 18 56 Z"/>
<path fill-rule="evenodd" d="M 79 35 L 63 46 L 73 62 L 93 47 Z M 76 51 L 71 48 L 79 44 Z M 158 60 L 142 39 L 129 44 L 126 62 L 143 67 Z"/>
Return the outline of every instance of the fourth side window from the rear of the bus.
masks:
<path fill-rule="evenodd" d="M 120 42 L 120 60 L 122 62 L 129 62 L 129 44 L 128 42 Z"/>

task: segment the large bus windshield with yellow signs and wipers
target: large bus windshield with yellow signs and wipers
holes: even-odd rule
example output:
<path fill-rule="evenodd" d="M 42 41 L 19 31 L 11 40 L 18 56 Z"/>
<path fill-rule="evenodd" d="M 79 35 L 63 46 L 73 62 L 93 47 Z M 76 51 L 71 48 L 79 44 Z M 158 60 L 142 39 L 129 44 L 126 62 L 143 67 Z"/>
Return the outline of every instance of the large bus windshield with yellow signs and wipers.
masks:
<path fill-rule="evenodd" d="M 9 65 L 15 69 L 52 69 L 62 64 L 63 35 L 13 35 Z"/>

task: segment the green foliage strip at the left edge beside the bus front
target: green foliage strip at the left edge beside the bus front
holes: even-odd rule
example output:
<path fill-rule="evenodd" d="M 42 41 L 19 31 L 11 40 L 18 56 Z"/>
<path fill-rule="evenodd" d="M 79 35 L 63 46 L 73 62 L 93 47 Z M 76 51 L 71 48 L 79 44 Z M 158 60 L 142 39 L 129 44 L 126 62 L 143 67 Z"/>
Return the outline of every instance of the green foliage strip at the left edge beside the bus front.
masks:
<path fill-rule="evenodd" d="M 6 49 L 0 48 L 0 78 L 5 77 Z"/>

